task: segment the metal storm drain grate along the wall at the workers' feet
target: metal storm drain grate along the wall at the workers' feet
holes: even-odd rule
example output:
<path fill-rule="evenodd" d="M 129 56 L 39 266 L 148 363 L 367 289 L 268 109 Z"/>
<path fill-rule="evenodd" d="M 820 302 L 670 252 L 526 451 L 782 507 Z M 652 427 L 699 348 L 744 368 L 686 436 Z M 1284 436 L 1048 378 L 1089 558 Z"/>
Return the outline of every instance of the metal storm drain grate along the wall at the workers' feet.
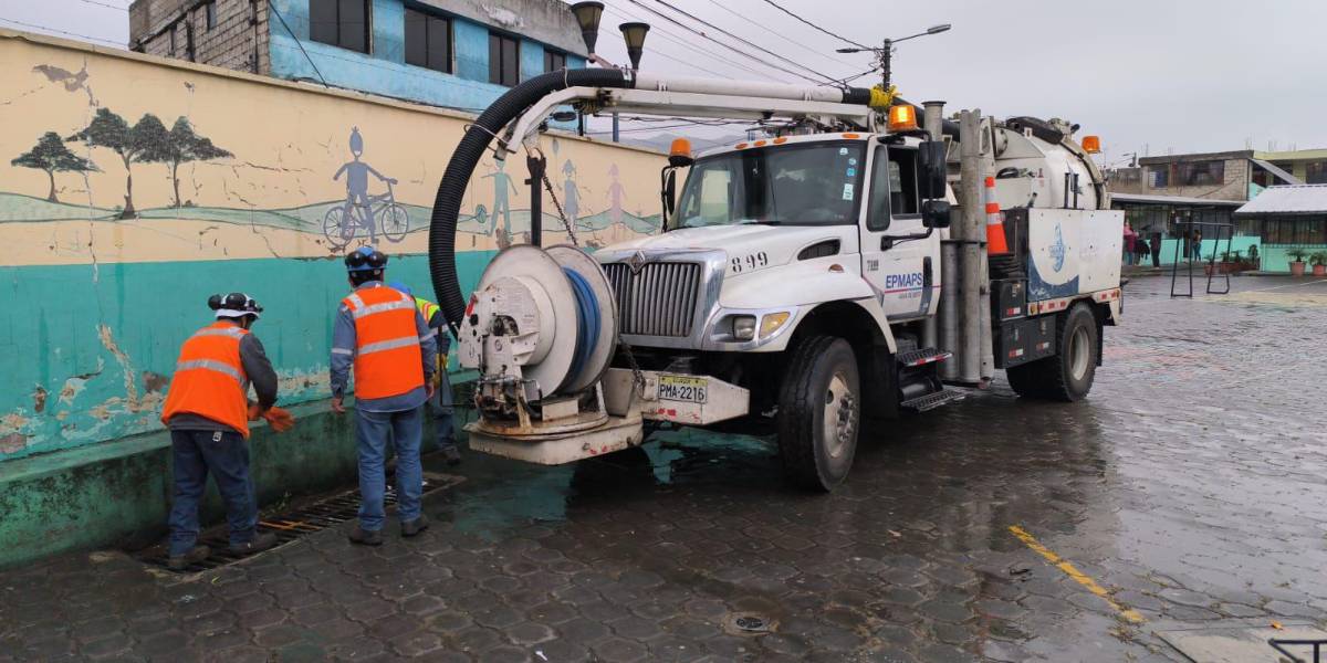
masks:
<path fill-rule="evenodd" d="M 438 491 L 451 488 L 463 481 L 462 477 L 455 475 L 442 475 L 437 472 L 423 473 L 423 495 L 429 496 Z M 397 505 L 397 491 L 391 485 L 391 476 L 387 477 L 387 491 L 384 497 L 384 503 L 387 509 Z M 342 522 L 352 521 L 358 517 L 360 513 L 360 489 L 352 488 L 349 491 L 328 495 L 321 499 L 307 501 L 299 507 L 289 508 L 277 514 L 265 516 L 259 518 L 259 530 L 271 532 L 276 534 L 277 544 L 271 549 L 276 550 L 285 544 L 303 538 L 314 532 L 322 532 L 328 528 L 334 528 Z M 199 564 L 191 565 L 183 572 L 178 573 L 198 573 L 206 572 L 208 569 L 216 569 L 219 566 L 226 566 L 228 564 L 256 556 L 236 556 L 230 552 L 230 538 L 226 525 L 218 525 L 203 530 L 198 536 L 198 542 L 206 545 L 211 549 L 212 554 Z M 169 558 L 169 549 L 166 544 L 158 544 L 145 550 L 139 550 L 134 554 L 141 562 L 149 566 L 159 566 L 167 569 L 166 562 Z M 263 553 L 260 553 L 263 554 Z M 174 573 L 174 572 L 173 572 Z"/>

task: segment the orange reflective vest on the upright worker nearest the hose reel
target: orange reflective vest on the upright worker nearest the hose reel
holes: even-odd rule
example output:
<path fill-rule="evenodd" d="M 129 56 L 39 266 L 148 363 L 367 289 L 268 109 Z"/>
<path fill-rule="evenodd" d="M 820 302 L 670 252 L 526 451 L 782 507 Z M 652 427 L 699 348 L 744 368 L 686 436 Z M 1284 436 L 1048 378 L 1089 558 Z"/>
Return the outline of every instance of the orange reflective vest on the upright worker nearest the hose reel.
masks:
<path fill-rule="evenodd" d="M 354 320 L 354 394 L 389 398 L 423 386 L 415 302 L 395 288 L 361 288 L 341 300 Z"/>

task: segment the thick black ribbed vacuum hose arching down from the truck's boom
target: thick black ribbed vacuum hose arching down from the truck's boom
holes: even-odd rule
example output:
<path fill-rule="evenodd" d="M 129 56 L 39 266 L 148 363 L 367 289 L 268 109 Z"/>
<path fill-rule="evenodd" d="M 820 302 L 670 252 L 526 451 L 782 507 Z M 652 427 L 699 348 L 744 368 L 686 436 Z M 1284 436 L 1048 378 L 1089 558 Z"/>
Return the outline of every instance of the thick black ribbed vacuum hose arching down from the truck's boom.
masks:
<path fill-rule="evenodd" d="M 438 305 L 442 306 L 453 333 L 460 329 L 460 320 L 466 314 L 466 298 L 460 294 L 460 284 L 456 281 L 456 219 L 460 215 L 460 200 L 470 176 L 474 175 L 494 135 L 549 93 L 575 86 L 633 88 L 634 82 L 634 78 L 616 69 L 549 72 L 507 90 L 466 130 L 466 135 L 451 154 L 442 183 L 438 184 L 433 217 L 429 220 L 429 276 L 433 278 L 433 292 L 438 297 Z"/>

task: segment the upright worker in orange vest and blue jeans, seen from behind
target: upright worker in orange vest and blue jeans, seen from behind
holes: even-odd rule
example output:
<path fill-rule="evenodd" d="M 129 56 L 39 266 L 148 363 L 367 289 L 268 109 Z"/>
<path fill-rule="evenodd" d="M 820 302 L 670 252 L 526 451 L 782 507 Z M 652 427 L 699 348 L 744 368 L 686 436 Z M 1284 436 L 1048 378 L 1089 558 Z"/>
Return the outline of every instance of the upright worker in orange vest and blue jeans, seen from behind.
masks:
<path fill-rule="evenodd" d="M 354 428 L 360 450 L 360 524 L 350 541 L 382 545 L 386 446 L 397 452 L 397 516 L 401 536 L 429 528 L 421 508 L 423 404 L 433 398 L 435 333 L 414 298 L 384 285 L 387 256 L 361 247 L 345 257 L 354 292 L 341 300 L 332 330 L 332 410 L 345 412 L 354 370 Z"/>

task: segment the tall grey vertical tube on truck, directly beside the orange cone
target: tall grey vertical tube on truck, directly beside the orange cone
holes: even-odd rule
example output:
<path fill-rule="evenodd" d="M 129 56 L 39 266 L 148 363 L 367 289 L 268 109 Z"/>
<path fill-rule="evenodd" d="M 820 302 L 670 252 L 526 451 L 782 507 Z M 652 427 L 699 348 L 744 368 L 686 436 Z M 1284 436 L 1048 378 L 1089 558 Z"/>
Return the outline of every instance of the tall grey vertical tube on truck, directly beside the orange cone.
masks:
<path fill-rule="evenodd" d="M 962 280 L 959 302 L 961 353 L 958 355 L 959 382 L 975 385 L 982 378 L 981 332 L 981 267 L 985 237 L 986 206 L 982 204 L 982 133 L 981 110 L 965 110 L 958 119 L 959 188 L 958 204 L 962 210 Z"/>

